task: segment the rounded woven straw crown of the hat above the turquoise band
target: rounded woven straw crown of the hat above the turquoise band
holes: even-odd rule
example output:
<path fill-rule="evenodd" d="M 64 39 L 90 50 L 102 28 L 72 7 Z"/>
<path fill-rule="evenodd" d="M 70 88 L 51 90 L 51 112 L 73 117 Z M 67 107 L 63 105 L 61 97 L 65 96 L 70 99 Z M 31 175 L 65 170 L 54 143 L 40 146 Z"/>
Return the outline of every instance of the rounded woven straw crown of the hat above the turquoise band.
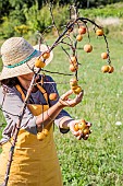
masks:
<path fill-rule="evenodd" d="M 23 61 L 34 51 L 23 37 L 11 37 L 1 46 L 2 61 L 4 66 L 12 66 Z"/>

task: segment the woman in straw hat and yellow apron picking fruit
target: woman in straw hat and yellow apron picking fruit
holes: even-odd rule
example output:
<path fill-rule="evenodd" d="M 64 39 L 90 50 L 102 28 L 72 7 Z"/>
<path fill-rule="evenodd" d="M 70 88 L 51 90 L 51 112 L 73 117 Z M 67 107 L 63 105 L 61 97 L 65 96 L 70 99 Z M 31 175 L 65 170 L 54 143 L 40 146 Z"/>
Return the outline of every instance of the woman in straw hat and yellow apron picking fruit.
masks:
<path fill-rule="evenodd" d="M 39 47 L 39 46 L 38 46 Z M 4 181 L 9 151 L 19 124 L 21 108 L 30 85 L 35 60 L 48 50 L 41 45 L 40 50 L 29 45 L 23 37 L 7 39 L 1 46 L 3 69 L 0 74 L 0 104 L 7 120 L 0 144 L 0 184 Z M 53 54 L 45 61 L 52 60 Z M 54 123 L 62 133 L 71 132 L 82 139 L 83 133 L 74 130 L 76 120 L 63 108 L 73 107 L 82 102 L 83 92 L 71 100 L 67 91 L 56 101 L 49 95 L 57 93 L 57 85 L 51 77 L 38 74 L 27 101 L 21 121 L 13 161 L 9 175 L 9 186 L 62 186 L 61 171 L 53 141 Z M 90 124 L 87 124 L 90 127 Z M 84 137 L 87 139 L 88 135 Z"/>

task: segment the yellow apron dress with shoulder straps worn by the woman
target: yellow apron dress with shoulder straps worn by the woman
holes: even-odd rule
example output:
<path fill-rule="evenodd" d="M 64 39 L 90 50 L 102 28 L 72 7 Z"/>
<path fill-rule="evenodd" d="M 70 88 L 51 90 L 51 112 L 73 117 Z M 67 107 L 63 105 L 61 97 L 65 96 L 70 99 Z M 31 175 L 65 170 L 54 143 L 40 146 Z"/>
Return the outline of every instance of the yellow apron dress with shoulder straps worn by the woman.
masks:
<path fill-rule="evenodd" d="M 46 91 L 40 85 L 37 86 L 48 103 Z M 22 89 L 19 85 L 16 89 L 24 100 L 25 95 Z M 34 116 L 49 108 L 49 105 L 29 104 L 27 106 Z M 48 136 L 44 140 L 38 140 L 36 135 L 20 129 L 8 186 L 62 186 L 52 125 L 48 129 Z M 11 141 L 2 146 L 2 153 L 0 154 L 0 186 L 4 179 L 10 148 Z"/>

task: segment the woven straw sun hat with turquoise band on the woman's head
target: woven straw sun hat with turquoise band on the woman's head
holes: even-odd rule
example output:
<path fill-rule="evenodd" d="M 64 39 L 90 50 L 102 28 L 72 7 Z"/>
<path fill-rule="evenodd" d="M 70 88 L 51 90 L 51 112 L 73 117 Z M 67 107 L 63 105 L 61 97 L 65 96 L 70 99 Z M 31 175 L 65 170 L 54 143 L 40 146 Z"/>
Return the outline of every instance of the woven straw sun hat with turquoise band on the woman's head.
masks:
<path fill-rule="evenodd" d="M 46 45 L 32 46 L 23 37 L 11 37 L 7 39 L 1 46 L 1 56 L 3 61 L 3 69 L 0 74 L 0 80 L 27 74 L 33 71 L 34 63 L 37 57 L 42 51 L 47 51 Z M 52 60 L 53 54 L 46 59 L 46 66 Z M 35 71 L 37 68 L 35 68 Z"/>

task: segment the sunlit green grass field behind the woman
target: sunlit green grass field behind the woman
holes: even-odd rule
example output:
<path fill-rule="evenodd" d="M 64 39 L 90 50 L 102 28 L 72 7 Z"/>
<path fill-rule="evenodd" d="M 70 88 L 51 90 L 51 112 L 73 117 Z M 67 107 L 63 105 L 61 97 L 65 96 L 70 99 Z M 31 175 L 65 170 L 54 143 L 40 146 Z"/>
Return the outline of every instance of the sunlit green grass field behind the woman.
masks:
<path fill-rule="evenodd" d="M 106 51 L 102 37 L 90 35 L 94 50 L 85 54 L 83 46 L 87 36 L 78 44 L 78 84 L 84 89 L 83 102 L 66 111 L 74 118 L 85 118 L 93 123 L 93 133 L 87 141 L 77 141 L 71 132 L 61 135 L 54 130 L 54 140 L 62 168 L 64 186 L 122 186 L 123 185 L 123 42 L 108 36 L 110 56 L 114 73 L 101 72 L 106 60 L 100 54 Z M 121 38 L 121 39 L 120 39 Z M 51 44 L 53 40 L 49 40 Z M 67 51 L 70 51 L 67 49 Z M 54 59 L 47 70 L 69 72 L 69 59 L 60 47 L 54 49 Z M 50 74 L 50 73 L 48 73 Z M 71 77 L 52 74 L 60 95 L 70 89 Z M 1 114 L 2 115 L 2 114 Z M 120 121 L 122 125 L 116 125 Z M 1 117 L 1 123 L 4 123 Z"/>

